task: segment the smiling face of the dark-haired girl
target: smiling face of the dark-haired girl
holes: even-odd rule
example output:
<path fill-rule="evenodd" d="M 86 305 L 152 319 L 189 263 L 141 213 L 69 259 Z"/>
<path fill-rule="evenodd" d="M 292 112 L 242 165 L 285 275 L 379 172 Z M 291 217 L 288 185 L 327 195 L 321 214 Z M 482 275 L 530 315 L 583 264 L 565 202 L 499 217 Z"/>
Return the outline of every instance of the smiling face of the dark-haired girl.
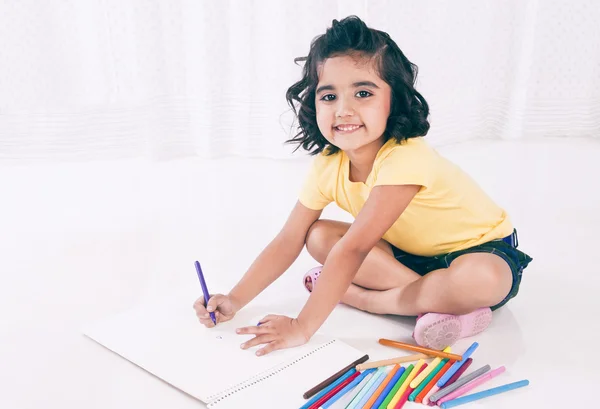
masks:
<path fill-rule="evenodd" d="M 351 56 L 328 58 L 320 66 L 315 95 L 319 130 L 343 151 L 383 143 L 390 115 L 390 86 L 374 63 Z"/>

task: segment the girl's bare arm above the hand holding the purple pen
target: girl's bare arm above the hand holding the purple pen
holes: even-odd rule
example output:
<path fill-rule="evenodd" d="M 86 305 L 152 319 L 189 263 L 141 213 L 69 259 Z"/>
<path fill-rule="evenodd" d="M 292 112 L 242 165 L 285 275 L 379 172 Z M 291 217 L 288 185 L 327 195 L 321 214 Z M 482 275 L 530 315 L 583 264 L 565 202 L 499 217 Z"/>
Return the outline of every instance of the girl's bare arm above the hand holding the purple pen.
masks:
<path fill-rule="evenodd" d="M 252 301 L 292 265 L 304 248 L 308 229 L 321 213 L 322 210 L 312 210 L 300 202 L 296 203 L 281 231 L 229 292 L 235 311 Z"/>

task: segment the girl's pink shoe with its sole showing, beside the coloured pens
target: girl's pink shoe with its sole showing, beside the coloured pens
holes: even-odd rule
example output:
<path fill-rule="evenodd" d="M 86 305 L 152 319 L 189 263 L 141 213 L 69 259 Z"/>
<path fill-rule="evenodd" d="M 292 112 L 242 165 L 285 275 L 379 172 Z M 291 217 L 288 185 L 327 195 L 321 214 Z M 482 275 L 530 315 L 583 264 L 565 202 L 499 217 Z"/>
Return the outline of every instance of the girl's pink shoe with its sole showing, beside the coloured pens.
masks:
<path fill-rule="evenodd" d="M 492 310 L 479 308 L 469 314 L 428 313 L 417 318 L 413 338 L 417 344 L 442 350 L 462 338 L 479 334 L 492 322 Z"/>

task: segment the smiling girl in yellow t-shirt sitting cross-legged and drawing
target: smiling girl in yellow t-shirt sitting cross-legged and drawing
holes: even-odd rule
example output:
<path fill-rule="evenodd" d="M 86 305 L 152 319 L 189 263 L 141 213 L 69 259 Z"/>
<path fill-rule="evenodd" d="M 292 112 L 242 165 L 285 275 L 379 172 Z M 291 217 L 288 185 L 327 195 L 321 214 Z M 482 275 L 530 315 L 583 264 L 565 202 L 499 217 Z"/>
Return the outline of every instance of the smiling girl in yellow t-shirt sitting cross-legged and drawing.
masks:
<path fill-rule="evenodd" d="M 212 327 L 273 283 L 304 246 L 320 263 L 297 318 L 269 315 L 238 329 L 257 355 L 301 345 L 341 301 L 376 314 L 417 315 L 413 337 L 443 349 L 477 334 L 513 298 L 532 260 L 508 215 L 423 138 L 429 107 L 417 67 L 388 34 L 351 16 L 317 37 L 287 100 L 300 132 L 288 142 L 316 155 L 279 234 L 228 295 L 194 304 Z M 296 110 L 295 103 L 299 105 Z M 335 202 L 355 220 L 321 220 Z"/>

